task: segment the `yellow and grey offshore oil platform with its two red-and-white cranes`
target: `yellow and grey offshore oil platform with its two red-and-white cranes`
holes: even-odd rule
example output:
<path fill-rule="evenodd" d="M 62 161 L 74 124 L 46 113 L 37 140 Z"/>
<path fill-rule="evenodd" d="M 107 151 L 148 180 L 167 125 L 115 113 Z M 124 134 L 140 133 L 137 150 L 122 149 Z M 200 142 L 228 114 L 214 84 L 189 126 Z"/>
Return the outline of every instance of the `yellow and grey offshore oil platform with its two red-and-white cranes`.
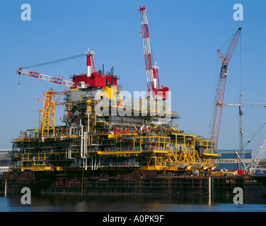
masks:
<path fill-rule="evenodd" d="M 39 129 L 13 139 L 16 169 L 141 169 L 186 171 L 195 174 L 214 169 L 213 142 L 178 130 L 170 112 L 168 87 L 158 79 L 159 67 L 151 56 L 146 7 L 141 7 L 148 93 L 125 95 L 118 76 L 96 71 L 93 56 L 86 52 L 87 73 L 72 81 L 18 69 L 19 74 L 67 86 L 64 93 L 43 93 Z M 54 126 L 55 107 L 64 98 L 64 126 Z"/>

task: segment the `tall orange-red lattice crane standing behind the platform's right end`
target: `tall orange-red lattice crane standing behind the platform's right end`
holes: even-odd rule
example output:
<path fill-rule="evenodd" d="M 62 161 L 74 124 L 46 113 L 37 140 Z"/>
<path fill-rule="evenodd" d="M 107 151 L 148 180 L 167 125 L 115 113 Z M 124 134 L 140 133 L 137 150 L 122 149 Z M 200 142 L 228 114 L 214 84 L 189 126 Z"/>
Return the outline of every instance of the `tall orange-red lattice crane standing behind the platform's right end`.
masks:
<path fill-rule="evenodd" d="M 219 75 L 218 88 L 216 90 L 214 118 L 212 121 L 211 140 L 213 141 L 214 150 L 216 150 L 218 144 L 219 130 L 221 124 L 221 112 L 224 107 L 224 90 L 226 88 L 227 69 L 229 61 L 233 56 L 233 52 L 236 49 L 236 44 L 238 43 L 238 37 L 240 34 L 241 34 L 241 28 L 238 28 L 237 32 L 233 35 L 233 39 L 231 40 L 229 49 L 227 49 L 225 57 L 223 54 L 221 54 L 220 49 L 218 49 L 218 54 L 221 59 L 221 72 Z"/>

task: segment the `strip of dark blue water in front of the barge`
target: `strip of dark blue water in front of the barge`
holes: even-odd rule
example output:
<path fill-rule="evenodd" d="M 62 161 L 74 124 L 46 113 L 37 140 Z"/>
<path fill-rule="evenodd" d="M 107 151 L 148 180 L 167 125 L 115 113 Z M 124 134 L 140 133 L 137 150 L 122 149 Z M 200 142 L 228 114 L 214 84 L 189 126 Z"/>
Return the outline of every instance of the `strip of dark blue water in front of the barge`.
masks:
<path fill-rule="evenodd" d="M 0 196 L 0 212 L 266 212 L 265 198 L 244 198 L 233 204 L 233 198 L 154 196 L 32 196 L 23 205 L 21 196 Z"/>

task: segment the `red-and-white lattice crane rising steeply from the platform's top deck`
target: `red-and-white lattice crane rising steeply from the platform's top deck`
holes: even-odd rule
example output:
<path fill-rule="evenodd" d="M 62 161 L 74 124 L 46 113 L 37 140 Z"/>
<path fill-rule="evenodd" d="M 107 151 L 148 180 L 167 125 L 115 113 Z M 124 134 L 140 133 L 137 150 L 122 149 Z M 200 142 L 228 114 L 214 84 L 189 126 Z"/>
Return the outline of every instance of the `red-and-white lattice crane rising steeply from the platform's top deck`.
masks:
<path fill-rule="evenodd" d="M 149 26 L 146 16 L 146 6 L 139 7 L 140 17 L 141 17 L 141 34 L 143 39 L 144 47 L 144 58 L 146 66 L 146 80 L 148 92 L 154 92 L 154 97 L 163 97 L 163 99 L 168 99 L 168 87 L 163 87 L 160 85 L 158 69 L 159 66 L 154 64 L 154 59 L 151 52 L 151 41 L 149 38 Z"/>

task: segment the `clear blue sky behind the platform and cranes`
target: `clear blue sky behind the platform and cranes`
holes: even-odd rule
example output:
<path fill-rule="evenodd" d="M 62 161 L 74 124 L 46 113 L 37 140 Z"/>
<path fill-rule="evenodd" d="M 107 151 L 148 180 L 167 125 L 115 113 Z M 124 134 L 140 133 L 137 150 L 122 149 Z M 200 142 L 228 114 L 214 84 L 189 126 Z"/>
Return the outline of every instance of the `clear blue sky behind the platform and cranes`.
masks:
<path fill-rule="evenodd" d="M 31 6 L 30 21 L 21 20 L 24 3 Z M 243 5 L 242 21 L 233 20 L 233 5 L 238 3 Z M 209 137 L 220 66 L 216 66 L 216 52 L 239 27 L 241 45 L 238 42 L 229 64 L 224 100 L 238 102 L 242 69 L 243 102 L 266 102 L 263 0 L 0 0 L 0 4 L 0 149 L 11 148 L 11 139 L 20 131 L 37 128 L 37 110 L 42 107 L 37 98 L 42 98 L 43 90 L 64 89 L 18 76 L 16 69 L 21 66 L 82 54 L 90 47 L 96 52 L 96 69 L 105 64 L 108 71 L 114 66 L 125 90 L 146 90 L 139 6 L 147 7 L 154 60 L 161 67 L 161 84 L 172 91 L 172 109 L 180 114 L 180 129 Z M 226 52 L 226 47 L 221 51 Z M 70 80 L 69 75 L 86 72 L 86 57 L 32 71 Z M 245 141 L 265 124 L 265 111 L 264 107 L 245 107 Z M 62 108 L 57 109 L 57 124 L 62 124 L 62 113 Z M 265 135 L 266 128 L 247 148 L 256 153 Z M 218 148 L 237 149 L 238 142 L 238 107 L 224 107 Z"/>

